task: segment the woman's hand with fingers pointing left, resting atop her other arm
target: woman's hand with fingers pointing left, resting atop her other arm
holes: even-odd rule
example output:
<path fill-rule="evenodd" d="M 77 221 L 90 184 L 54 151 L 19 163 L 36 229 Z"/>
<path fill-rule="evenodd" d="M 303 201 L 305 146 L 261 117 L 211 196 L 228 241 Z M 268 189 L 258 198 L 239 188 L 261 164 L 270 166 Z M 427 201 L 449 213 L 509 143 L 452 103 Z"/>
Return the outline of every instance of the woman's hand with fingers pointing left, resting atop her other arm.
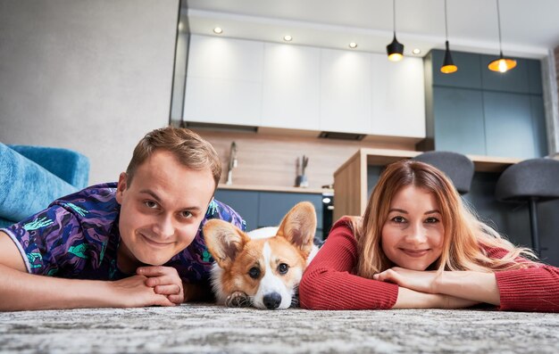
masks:
<path fill-rule="evenodd" d="M 372 276 L 375 280 L 398 284 L 416 292 L 438 293 L 438 280 L 442 272 L 410 270 L 393 267 Z"/>

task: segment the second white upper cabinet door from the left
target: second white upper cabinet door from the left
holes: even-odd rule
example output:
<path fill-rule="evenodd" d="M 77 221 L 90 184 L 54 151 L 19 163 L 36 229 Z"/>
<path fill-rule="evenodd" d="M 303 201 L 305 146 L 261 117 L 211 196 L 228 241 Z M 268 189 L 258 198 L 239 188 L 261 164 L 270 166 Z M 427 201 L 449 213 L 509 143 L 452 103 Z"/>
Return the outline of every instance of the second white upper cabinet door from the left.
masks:
<path fill-rule="evenodd" d="M 319 48 L 264 45 L 263 127 L 319 129 L 320 64 Z"/>

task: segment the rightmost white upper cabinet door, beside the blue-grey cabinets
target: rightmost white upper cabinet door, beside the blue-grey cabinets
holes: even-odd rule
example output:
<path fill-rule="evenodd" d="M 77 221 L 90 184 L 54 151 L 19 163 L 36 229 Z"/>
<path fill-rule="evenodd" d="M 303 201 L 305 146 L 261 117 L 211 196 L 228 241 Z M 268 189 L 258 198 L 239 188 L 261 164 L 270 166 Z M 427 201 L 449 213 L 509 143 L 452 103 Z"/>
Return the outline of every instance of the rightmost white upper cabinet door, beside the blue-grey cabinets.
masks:
<path fill-rule="evenodd" d="M 372 54 L 370 133 L 379 136 L 425 137 L 425 86 L 421 58 L 390 62 Z"/>

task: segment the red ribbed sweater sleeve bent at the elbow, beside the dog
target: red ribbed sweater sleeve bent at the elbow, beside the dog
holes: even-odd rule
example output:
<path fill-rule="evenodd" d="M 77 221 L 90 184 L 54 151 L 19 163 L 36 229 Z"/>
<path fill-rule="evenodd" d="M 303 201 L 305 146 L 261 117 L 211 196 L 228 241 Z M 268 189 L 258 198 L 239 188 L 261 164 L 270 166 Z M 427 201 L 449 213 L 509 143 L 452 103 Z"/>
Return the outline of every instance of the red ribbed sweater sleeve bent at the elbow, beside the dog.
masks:
<path fill-rule="evenodd" d="M 299 284 L 304 309 L 391 309 L 398 286 L 351 274 L 357 242 L 346 219 L 332 227 L 326 243 L 305 270 Z"/>

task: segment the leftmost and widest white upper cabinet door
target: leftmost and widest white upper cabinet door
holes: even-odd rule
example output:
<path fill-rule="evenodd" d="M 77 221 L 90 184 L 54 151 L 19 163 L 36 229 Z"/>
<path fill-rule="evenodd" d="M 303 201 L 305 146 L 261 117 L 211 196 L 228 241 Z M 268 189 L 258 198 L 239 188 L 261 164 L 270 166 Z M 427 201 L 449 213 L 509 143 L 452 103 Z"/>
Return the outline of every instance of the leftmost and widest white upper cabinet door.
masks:
<path fill-rule="evenodd" d="M 263 42 L 193 35 L 184 119 L 259 126 Z"/>

